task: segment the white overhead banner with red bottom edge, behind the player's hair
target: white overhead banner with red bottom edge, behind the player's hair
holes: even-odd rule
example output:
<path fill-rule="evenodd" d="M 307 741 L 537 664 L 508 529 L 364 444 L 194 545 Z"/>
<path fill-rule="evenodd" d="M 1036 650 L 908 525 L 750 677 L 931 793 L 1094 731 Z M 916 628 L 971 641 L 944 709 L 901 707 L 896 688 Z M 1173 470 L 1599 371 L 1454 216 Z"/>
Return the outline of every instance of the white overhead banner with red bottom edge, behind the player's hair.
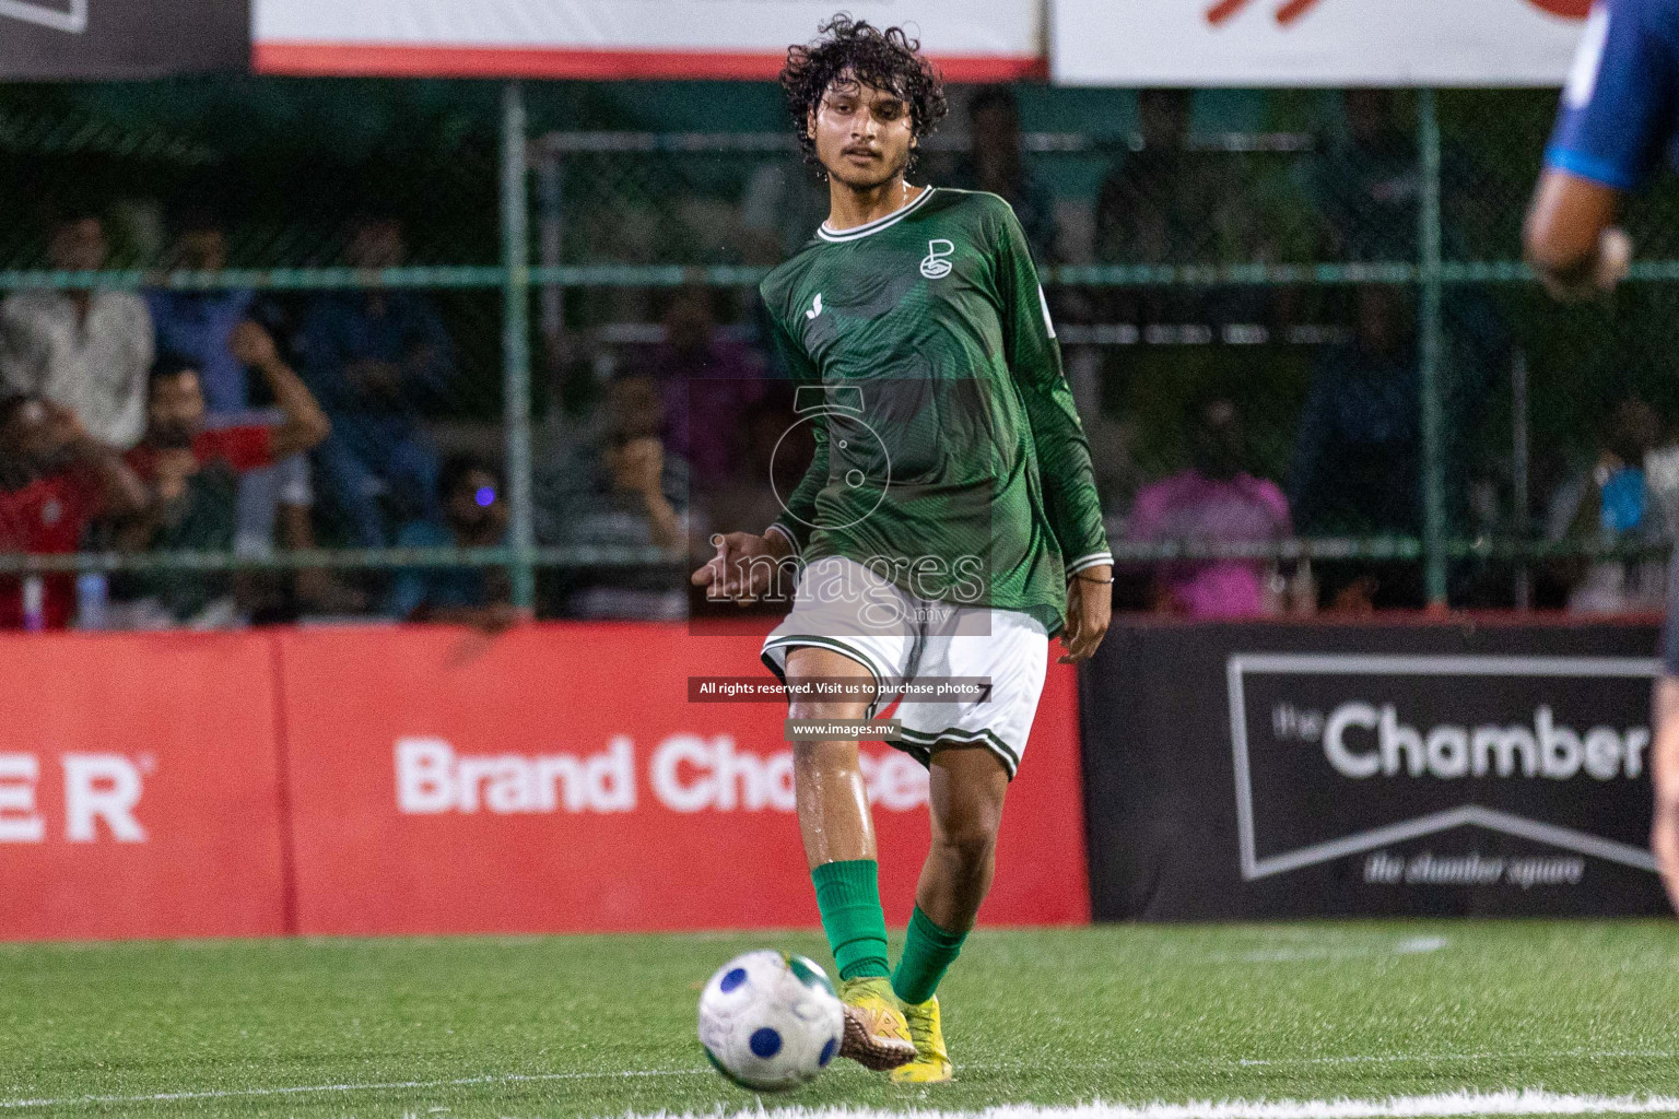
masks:
<path fill-rule="evenodd" d="M 92 0 L 97 3 L 99 0 Z M 1043 74 L 1044 0 L 868 0 L 952 81 Z M 831 0 L 255 0 L 257 69 L 430 77 L 772 79 Z"/>

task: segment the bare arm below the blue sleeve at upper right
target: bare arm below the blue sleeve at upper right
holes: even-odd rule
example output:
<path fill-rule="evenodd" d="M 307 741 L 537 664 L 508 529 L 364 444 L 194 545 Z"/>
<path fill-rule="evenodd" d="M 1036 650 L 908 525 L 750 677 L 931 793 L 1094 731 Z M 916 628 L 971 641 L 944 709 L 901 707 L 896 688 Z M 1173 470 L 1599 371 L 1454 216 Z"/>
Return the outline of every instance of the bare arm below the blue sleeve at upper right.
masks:
<path fill-rule="evenodd" d="M 1608 292 L 1627 275 L 1632 242 L 1615 226 L 1620 191 L 1546 168 L 1523 228 L 1528 263 L 1556 299 Z"/>

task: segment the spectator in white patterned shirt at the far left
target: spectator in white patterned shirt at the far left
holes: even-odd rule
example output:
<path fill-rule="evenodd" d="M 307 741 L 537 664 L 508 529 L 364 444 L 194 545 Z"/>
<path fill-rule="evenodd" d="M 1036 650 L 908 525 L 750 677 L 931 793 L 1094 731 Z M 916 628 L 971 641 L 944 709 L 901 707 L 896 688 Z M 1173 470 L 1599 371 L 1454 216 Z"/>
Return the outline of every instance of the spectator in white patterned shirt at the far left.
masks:
<path fill-rule="evenodd" d="M 62 272 L 102 268 L 99 215 L 62 215 L 47 255 Z M 151 357 L 151 315 L 133 292 L 37 289 L 13 292 L 0 304 L 0 391 L 64 404 L 107 446 L 134 446 L 146 426 Z"/>

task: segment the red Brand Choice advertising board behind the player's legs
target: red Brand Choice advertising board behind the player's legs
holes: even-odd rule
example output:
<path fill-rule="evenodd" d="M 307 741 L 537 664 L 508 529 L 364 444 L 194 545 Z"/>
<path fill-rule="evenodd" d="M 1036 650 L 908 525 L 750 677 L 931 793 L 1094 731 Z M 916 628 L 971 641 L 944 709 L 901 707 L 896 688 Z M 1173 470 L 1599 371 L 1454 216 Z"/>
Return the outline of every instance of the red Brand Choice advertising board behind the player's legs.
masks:
<path fill-rule="evenodd" d="M 690 703 L 759 638 L 546 624 L 277 638 L 297 931 L 808 926 L 786 708 Z M 1053 659 L 1053 658 L 1051 658 Z M 927 773 L 866 743 L 888 918 L 928 844 Z M 1051 664 L 982 921 L 1090 918 L 1071 669 Z"/>

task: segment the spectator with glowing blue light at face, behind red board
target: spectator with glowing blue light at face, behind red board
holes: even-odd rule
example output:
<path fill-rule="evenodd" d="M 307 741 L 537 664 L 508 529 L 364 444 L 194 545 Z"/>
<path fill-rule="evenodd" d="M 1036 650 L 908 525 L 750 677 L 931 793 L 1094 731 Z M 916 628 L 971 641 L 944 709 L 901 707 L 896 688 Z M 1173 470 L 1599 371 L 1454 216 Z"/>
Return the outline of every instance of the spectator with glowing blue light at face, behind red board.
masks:
<path fill-rule="evenodd" d="M 396 539 L 405 549 L 489 549 L 507 544 L 502 476 L 472 455 L 438 471 L 442 520 L 416 520 Z M 512 584 L 497 567 L 406 567 L 391 584 L 384 612 L 410 622 L 448 622 L 500 632 L 527 617 L 512 604 Z"/>

